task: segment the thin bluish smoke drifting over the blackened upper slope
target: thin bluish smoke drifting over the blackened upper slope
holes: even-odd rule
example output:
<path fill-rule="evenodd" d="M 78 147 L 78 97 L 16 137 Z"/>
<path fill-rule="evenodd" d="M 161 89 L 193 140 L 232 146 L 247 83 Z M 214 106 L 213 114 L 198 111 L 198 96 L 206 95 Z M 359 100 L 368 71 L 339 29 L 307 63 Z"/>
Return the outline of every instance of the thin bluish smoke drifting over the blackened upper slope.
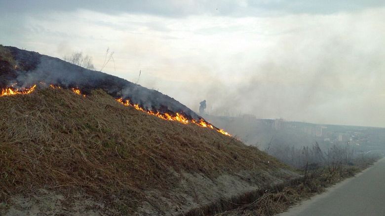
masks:
<path fill-rule="evenodd" d="M 16 71 L 17 77 L 9 83 L 19 87 L 29 87 L 39 82 L 64 88 L 78 87 L 83 94 L 93 89 L 102 89 L 114 98 L 130 100 L 146 110 L 185 113 L 189 119 L 201 117 L 175 99 L 158 91 L 142 87 L 125 79 L 104 72 L 91 71 L 70 64 L 58 58 L 9 47 L 19 62 L 27 62 L 29 70 Z"/>

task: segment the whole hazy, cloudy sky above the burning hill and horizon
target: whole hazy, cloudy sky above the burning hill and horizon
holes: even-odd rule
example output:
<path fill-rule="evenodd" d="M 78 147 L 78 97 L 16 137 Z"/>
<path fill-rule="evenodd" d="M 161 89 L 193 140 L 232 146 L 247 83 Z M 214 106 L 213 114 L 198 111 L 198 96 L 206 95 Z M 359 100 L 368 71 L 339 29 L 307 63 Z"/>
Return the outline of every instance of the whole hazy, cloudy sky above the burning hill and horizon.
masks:
<path fill-rule="evenodd" d="M 103 72 L 211 114 L 385 127 L 384 20 L 384 0 L 0 0 L 0 44 L 96 70 L 109 47 Z"/>

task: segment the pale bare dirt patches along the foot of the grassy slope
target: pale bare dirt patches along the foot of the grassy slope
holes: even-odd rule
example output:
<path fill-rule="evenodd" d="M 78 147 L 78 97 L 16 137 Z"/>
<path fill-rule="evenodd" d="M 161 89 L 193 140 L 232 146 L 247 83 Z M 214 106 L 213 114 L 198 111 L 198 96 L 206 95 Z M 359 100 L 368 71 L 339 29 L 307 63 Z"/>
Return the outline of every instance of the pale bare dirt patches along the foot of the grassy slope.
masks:
<path fill-rule="evenodd" d="M 146 199 L 136 212 L 136 216 L 184 215 L 193 209 L 208 205 L 221 199 L 261 188 L 262 179 L 273 183 L 281 183 L 289 178 L 296 178 L 298 174 L 288 170 L 272 173 L 260 173 L 258 179 L 251 180 L 252 173 L 241 172 L 237 175 L 221 175 L 209 179 L 201 174 L 174 173 L 182 177 L 181 181 L 171 191 L 146 191 Z M 181 176 L 182 175 L 182 176 Z M 283 178 L 279 178 L 281 176 Z M 49 188 L 41 188 L 33 194 L 13 195 L 7 204 L 0 204 L 2 216 L 110 216 L 120 215 L 105 203 L 97 201 L 86 194 L 77 193 L 71 197 Z"/>

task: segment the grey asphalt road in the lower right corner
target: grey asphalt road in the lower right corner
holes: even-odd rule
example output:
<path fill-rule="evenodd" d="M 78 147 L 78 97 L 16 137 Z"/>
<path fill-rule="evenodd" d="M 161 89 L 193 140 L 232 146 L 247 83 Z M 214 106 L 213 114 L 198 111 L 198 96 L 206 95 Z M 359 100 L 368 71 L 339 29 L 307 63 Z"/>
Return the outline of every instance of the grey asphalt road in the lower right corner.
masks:
<path fill-rule="evenodd" d="M 385 158 L 279 216 L 385 216 Z"/>

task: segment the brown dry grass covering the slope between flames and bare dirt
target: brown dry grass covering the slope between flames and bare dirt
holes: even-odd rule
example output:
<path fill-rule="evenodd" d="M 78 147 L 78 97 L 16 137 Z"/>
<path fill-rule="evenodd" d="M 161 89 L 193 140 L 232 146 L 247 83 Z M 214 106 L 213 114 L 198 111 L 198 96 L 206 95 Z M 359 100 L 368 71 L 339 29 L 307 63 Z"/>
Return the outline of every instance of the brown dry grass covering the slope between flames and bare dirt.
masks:
<path fill-rule="evenodd" d="M 178 182 L 171 170 L 215 178 L 284 167 L 256 147 L 125 107 L 100 90 L 82 97 L 38 88 L 1 97 L 0 112 L 0 203 L 48 187 L 85 192 L 128 214 L 144 190 Z"/>

